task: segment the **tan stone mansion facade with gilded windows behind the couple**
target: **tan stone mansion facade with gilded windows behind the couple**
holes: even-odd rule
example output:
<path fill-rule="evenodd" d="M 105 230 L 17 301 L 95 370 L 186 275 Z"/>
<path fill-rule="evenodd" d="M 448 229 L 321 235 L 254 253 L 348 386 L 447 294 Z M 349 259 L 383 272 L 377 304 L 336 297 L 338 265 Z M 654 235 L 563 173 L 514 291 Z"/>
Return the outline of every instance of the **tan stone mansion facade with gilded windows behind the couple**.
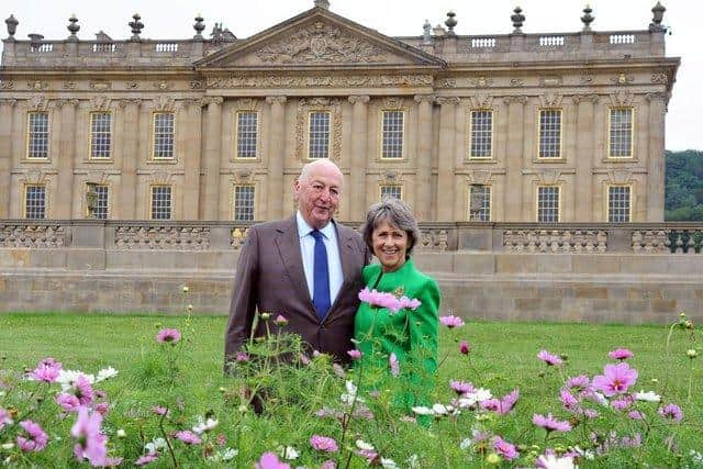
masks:
<path fill-rule="evenodd" d="M 280 217 L 312 156 L 346 175 L 341 220 L 381 193 L 427 222 L 662 220 L 679 59 L 660 18 L 523 34 L 516 13 L 510 34 L 447 21 L 388 37 L 320 3 L 246 40 L 205 40 L 201 20 L 194 38 L 166 42 L 141 38 L 138 18 L 129 41 L 79 40 L 72 20 L 65 41 L 12 31 L 0 219 Z"/>

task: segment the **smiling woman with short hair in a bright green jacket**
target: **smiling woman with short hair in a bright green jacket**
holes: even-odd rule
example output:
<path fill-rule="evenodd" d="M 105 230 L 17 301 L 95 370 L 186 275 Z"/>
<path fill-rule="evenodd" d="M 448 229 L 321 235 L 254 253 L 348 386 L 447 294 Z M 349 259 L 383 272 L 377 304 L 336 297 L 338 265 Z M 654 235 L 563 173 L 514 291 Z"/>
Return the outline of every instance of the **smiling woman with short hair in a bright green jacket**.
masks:
<path fill-rule="evenodd" d="M 440 294 L 437 282 L 420 272 L 410 258 L 420 238 L 417 222 L 405 203 L 384 199 L 369 209 L 361 236 L 379 260 L 364 268 L 367 288 L 420 301 L 416 309 L 402 308 L 398 312 L 361 302 L 354 321 L 354 337 L 364 364 L 384 367 L 393 375 L 400 371 L 411 381 L 422 382 L 422 375 L 437 369 Z M 402 400 L 404 405 L 413 405 L 415 398 L 404 395 Z"/>

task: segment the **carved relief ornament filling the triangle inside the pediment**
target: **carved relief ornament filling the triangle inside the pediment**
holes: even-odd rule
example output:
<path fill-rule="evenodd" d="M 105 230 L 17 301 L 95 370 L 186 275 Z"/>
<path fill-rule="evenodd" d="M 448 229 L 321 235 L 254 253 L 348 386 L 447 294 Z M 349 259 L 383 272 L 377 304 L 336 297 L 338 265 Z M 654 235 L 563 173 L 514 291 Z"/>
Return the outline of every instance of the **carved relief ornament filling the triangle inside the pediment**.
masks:
<path fill-rule="evenodd" d="M 388 60 L 380 47 L 322 21 L 263 47 L 256 52 L 256 56 L 267 64 L 358 64 Z"/>

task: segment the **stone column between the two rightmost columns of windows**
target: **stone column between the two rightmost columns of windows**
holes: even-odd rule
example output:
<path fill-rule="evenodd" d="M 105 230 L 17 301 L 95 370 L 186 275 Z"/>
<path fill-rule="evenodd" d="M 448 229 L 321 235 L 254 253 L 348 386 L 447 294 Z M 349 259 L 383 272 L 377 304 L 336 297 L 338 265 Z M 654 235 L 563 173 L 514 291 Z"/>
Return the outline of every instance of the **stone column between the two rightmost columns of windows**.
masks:
<path fill-rule="evenodd" d="M 577 94 L 573 103 L 577 110 L 577 144 L 574 155 L 574 222 L 594 222 L 593 219 L 593 174 L 595 167 L 595 147 L 593 133 L 595 132 L 594 104 L 598 94 Z"/>

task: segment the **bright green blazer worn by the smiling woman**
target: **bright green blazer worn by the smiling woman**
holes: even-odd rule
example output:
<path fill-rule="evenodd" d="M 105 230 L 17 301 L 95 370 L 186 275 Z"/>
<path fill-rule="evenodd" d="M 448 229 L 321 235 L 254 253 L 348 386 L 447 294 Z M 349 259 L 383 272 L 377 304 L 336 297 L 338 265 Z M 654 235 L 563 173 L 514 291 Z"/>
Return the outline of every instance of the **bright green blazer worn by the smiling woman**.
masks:
<path fill-rule="evenodd" d="M 389 357 L 395 353 L 401 373 L 403 366 L 424 369 L 433 373 L 437 369 L 437 328 L 439 288 L 437 282 L 422 273 L 411 259 L 393 272 L 382 272 L 381 266 L 366 266 L 364 283 L 369 290 L 416 298 L 422 304 L 416 310 L 402 309 L 391 314 L 387 309 L 371 308 L 362 302 L 354 319 L 354 337 L 364 353 L 366 364 L 389 368 Z M 411 377 L 412 379 L 412 377 Z"/>

